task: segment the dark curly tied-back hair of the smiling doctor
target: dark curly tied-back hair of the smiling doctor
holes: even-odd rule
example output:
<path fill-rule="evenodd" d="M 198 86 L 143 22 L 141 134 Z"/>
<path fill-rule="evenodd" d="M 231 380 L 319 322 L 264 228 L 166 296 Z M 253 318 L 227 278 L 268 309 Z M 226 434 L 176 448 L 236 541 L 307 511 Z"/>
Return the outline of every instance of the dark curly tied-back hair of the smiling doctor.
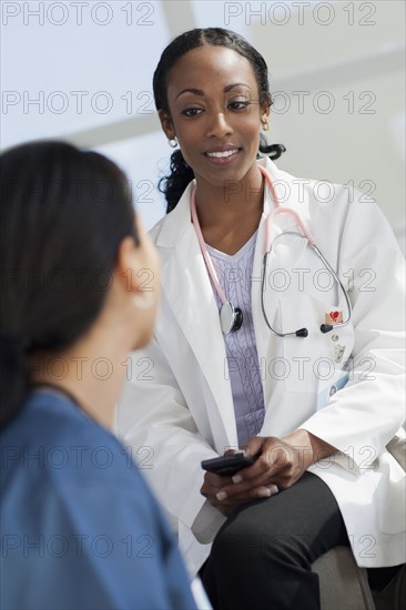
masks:
<path fill-rule="evenodd" d="M 267 67 L 264 58 L 242 35 L 224 30 L 223 28 L 195 29 L 184 32 L 175 38 L 163 51 L 153 77 L 153 91 L 156 110 L 170 114 L 168 102 L 168 77 L 170 70 L 175 65 L 182 55 L 203 45 L 226 47 L 236 51 L 252 65 L 260 92 L 260 103 L 272 105 Z M 283 144 L 260 145 L 263 154 L 277 159 L 285 146 Z M 171 155 L 170 174 L 160 180 L 159 189 L 166 199 L 166 213 L 171 212 L 177 204 L 183 191 L 194 179 L 192 167 L 185 162 L 182 152 L 175 151 Z"/>

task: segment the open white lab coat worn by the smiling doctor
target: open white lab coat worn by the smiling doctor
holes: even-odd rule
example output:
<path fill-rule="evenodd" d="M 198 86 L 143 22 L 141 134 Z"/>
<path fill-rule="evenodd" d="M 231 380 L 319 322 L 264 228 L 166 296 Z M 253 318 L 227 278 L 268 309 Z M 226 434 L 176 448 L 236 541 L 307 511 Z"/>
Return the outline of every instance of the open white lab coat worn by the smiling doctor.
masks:
<path fill-rule="evenodd" d="M 268 331 L 261 309 L 266 193 L 252 273 L 266 407 L 260 435 L 282 437 L 305 428 L 336 447 L 337 454 L 311 470 L 332 489 L 357 563 L 402 563 L 405 472 L 385 446 L 403 434 L 405 417 L 404 258 L 387 221 L 365 195 L 297 181 L 268 160 L 266 165 L 281 204 L 300 213 L 351 288 L 353 314 L 347 326 L 322 334 L 326 313 L 342 311 L 346 317 L 343 294 L 336 284 L 331 288 L 328 273 L 305 241 L 292 238 L 284 248 L 276 246 L 278 240 L 267 268 L 267 316 L 283 332 L 307 327 L 308 337 L 278 338 Z M 162 305 L 154 340 L 132 355 L 116 425 L 177 520 L 181 550 L 195 572 L 224 521 L 200 494 L 200 464 L 237 447 L 237 435 L 219 311 L 191 224 L 191 187 L 151 232 L 162 260 Z M 292 224 L 291 216 L 278 218 L 285 228 Z M 344 366 L 348 383 L 317 409 Z"/>

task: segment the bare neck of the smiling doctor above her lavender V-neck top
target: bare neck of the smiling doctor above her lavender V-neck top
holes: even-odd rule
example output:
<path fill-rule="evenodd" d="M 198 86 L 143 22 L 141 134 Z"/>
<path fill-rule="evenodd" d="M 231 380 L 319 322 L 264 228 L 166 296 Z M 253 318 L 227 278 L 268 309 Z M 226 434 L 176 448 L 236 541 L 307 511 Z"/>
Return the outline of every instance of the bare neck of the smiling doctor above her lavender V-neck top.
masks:
<path fill-rule="evenodd" d="M 241 182 L 213 185 L 196 176 L 196 211 L 204 241 L 227 254 L 255 233 L 263 212 L 264 181 L 256 163 Z"/>

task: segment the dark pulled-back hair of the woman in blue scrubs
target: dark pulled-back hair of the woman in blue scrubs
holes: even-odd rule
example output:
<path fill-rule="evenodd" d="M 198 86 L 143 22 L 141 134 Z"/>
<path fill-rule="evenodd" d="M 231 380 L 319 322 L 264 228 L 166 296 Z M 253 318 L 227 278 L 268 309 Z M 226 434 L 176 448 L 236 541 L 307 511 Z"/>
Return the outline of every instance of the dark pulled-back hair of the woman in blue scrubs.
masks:
<path fill-rule="evenodd" d="M 33 142 L 0 155 L 0 426 L 30 387 L 31 353 L 60 350 L 98 317 L 125 236 L 124 174 L 95 152 Z"/>

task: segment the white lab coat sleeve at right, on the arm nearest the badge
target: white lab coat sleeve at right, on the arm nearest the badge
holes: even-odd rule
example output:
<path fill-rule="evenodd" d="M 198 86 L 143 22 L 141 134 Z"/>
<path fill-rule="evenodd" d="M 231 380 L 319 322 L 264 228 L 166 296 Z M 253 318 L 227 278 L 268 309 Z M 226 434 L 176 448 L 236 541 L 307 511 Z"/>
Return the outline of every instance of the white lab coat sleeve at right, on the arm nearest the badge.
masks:
<path fill-rule="evenodd" d="M 337 461 L 356 471 L 372 467 L 405 420 L 405 262 L 374 202 L 354 202 L 339 261 L 355 331 L 349 380 L 301 428 L 336 447 Z"/>

